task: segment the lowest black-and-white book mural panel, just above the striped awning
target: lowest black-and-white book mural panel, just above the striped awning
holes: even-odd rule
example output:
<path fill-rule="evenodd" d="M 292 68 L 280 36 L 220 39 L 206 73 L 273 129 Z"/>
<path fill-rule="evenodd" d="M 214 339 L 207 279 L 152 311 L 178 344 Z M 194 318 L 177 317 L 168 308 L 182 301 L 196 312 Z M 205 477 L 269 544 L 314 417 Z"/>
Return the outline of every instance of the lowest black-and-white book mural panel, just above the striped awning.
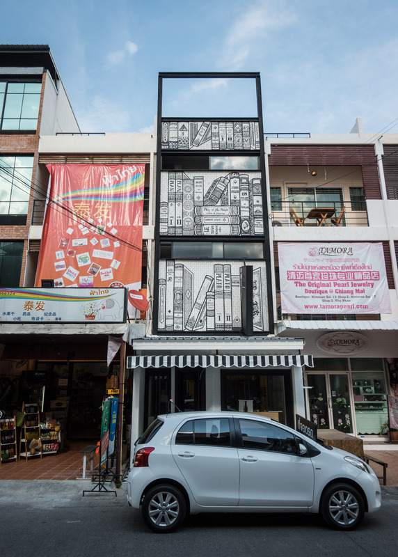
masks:
<path fill-rule="evenodd" d="M 253 265 L 253 329 L 266 330 L 266 269 Z M 161 260 L 159 262 L 159 331 L 241 331 L 239 260 Z"/>

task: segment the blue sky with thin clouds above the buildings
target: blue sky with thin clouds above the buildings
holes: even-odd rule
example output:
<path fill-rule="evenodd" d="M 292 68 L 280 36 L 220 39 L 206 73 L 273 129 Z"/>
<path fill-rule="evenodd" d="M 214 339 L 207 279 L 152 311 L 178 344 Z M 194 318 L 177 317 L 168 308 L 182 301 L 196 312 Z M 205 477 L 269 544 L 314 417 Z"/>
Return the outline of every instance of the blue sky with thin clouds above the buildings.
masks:
<path fill-rule="evenodd" d="M 397 29 L 397 0 L 19 0 L 0 42 L 49 45 L 83 132 L 152 130 L 159 72 L 248 71 L 267 132 L 373 133 L 398 132 Z M 222 82 L 177 98 L 217 95 L 236 116 Z"/>

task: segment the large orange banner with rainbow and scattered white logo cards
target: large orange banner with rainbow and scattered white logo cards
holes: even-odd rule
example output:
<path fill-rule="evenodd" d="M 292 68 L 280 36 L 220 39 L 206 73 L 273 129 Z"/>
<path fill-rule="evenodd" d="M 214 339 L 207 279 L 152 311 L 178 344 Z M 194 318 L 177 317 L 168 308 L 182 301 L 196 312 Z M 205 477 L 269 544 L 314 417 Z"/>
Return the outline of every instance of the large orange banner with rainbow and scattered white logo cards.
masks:
<path fill-rule="evenodd" d="M 35 285 L 52 278 L 60 288 L 140 288 L 145 164 L 47 168 L 51 189 Z"/>

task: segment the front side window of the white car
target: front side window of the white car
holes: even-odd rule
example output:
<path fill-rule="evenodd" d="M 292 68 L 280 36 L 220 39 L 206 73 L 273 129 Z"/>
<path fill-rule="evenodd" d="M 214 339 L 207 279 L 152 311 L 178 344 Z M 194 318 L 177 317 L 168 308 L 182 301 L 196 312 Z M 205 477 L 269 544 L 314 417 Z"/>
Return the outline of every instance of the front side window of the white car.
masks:
<path fill-rule="evenodd" d="M 298 455 L 298 439 L 289 431 L 271 423 L 239 419 L 244 448 Z"/>

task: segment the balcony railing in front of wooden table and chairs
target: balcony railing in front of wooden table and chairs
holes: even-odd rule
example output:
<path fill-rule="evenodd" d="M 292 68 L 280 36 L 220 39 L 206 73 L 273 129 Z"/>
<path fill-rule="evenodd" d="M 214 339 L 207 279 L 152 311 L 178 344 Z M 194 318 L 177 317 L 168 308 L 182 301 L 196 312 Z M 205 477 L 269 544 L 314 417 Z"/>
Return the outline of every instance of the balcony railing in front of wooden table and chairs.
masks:
<path fill-rule="evenodd" d="M 369 226 L 365 201 L 271 201 L 272 226 Z"/>

